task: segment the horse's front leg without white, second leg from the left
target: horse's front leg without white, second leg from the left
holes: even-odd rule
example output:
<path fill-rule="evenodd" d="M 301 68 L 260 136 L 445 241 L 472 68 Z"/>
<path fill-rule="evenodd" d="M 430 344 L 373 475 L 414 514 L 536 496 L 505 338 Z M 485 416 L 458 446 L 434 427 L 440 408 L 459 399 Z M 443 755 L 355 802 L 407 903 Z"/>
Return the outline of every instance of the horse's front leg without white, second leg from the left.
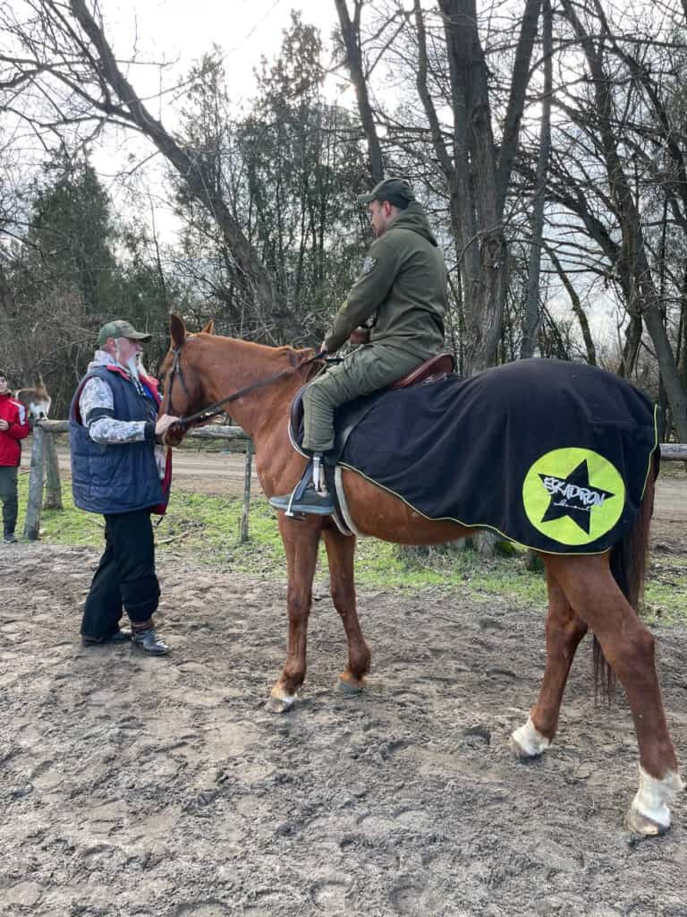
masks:
<path fill-rule="evenodd" d="M 370 670 L 371 654 L 355 609 L 355 538 L 344 536 L 333 527 L 325 528 L 323 535 L 329 559 L 332 601 L 341 615 L 348 642 L 348 665 L 339 676 L 339 684 L 344 694 L 358 694 L 363 690 L 365 675 Z"/>

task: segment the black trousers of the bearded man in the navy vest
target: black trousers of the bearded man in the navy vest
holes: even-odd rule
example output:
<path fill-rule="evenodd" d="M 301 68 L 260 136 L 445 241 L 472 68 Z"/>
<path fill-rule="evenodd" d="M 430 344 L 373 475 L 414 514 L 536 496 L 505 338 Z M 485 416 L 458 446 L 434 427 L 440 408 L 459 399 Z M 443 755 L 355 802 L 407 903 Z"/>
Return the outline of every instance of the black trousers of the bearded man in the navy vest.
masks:
<path fill-rule="evenodd" d="M 148 510 L 105 516 L 105 550 L 83 609 L 82 635 L 112 636 L 125 611 L 140 624 L 158 607 L 155 541 Z"/>

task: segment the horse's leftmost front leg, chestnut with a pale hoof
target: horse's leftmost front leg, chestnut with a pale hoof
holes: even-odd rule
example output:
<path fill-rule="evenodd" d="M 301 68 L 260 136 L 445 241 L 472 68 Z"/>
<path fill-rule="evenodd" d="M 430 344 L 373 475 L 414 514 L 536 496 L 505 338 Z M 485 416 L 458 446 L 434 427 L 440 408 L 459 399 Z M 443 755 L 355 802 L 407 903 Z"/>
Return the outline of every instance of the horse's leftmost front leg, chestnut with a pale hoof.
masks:
<path fill-rule="evenodd" d="M 289 644 L 284 668 L 266 703 L 270 713 L 286 713 L 290 710 L 305 680 L 308 617 L 311 612 L 312 580 L 322 533 L 322 518 L 309 516 L 297 522 L 279 513 L 279 532 L 284 543 L 289 573 Z"/>

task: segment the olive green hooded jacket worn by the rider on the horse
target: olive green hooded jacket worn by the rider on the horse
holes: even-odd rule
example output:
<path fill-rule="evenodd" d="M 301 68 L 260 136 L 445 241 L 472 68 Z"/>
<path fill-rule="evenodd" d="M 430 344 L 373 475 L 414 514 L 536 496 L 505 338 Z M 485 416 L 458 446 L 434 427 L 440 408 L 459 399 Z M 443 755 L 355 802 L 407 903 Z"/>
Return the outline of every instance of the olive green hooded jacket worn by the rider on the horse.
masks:
<path fill-rule="evenodd" d="M 360 325 L 370 341 L 428 359 L 442 348 L 446 267 L 421 204 L 413 202 L 367 253 L 325 338 L 330 353 Z"/>

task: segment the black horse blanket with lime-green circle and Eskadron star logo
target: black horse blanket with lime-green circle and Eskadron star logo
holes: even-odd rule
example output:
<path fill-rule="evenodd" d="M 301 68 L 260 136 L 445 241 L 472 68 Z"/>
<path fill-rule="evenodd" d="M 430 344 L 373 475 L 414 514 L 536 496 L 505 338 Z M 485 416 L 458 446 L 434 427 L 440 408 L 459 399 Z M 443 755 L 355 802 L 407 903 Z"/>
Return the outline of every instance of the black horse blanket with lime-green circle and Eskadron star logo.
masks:
<path fill-rule="evenodd" d="M 658 447 L 645 395 L 557 359 L 367 396 L 337 411 L 342 426 L 341 465 L 418 513 L 554 554 L 627 533 Z"/>

